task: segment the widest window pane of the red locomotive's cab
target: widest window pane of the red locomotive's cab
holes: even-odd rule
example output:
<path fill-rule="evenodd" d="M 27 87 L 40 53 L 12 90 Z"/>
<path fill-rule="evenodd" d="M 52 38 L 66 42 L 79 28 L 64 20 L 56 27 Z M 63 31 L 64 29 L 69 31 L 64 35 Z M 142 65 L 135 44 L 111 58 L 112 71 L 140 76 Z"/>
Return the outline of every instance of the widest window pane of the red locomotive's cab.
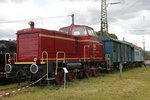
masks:
<path fill-rule="evenodd" d="M 74 27 L 73 30 L 72 30 L 72 34 L 73 35 L 87 35 L 87 32 L 86 32 L 86 28 L 85 27 Z"/>

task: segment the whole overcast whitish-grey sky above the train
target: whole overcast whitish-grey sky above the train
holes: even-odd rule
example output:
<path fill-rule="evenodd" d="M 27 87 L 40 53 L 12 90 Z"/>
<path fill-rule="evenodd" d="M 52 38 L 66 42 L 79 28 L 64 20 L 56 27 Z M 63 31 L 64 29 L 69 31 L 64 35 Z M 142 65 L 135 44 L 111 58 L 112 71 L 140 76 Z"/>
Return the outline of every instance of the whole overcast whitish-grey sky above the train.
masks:
<path fill-rule="evenodd" d="M 107 0 L 109 5 L 108 30 L 120 40 L 132 42 L 150 51 L 150 1 L 149 0 Z M 28 28 L 30 19 L 35 27 L 58 30 L 70 25 L 75 14 L 75 24 L 85 24 L 100 31 L 101 0 L 0 0 L 0 39 L 15 39 L 17 30 Z M 59 17 L 57 17 L 59 16 Z M 12 22 L 9 21 L 19 21 Z M 6 23 L 9 22 L 9 23 Z"/>

